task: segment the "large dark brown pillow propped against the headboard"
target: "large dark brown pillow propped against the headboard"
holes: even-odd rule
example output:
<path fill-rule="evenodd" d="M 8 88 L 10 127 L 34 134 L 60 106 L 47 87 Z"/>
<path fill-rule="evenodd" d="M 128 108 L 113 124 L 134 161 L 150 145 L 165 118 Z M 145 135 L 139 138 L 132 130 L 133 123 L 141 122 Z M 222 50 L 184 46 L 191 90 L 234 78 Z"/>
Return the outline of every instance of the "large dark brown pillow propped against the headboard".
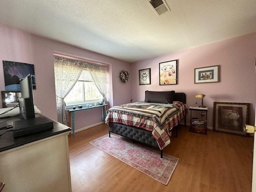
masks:
<path fill-rule="evenodd" d="M 145 102 L 172 104 L 175 91 L 145 91 Z"/>

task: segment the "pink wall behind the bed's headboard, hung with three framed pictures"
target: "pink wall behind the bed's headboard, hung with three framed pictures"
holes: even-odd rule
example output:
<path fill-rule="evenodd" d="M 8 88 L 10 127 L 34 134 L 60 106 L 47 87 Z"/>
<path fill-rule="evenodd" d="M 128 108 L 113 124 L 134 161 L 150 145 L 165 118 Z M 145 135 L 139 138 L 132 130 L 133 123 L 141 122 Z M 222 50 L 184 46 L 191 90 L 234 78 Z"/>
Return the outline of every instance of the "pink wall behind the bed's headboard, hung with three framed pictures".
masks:
<path fill-rule="evenodd" d="M 171 42 L 170 42 L 171 43 Z M 188 106 L 197 93 L 206 94 L 208 126 L 212 127 L 213 102 L 250 103 L 250 124 L 254 124 L 256 100 L 256 33 L 182 50 L 132 64 L 132 99 L 144 100 L 145 90 L 184 92 Z M 159 86 L 159 63 L 179 60 L 178 85 Z M 194 84 L 194 68 L 220 65 L 219 83 Z M 139 85 L 138 70 L 151 68 L 151 85 Z M 189 116 L 188 116 L 189 117 Z M 189 118 L 187 118 L 189 119 Z M 187 121 L 189 122 L 189 121 Z"/>

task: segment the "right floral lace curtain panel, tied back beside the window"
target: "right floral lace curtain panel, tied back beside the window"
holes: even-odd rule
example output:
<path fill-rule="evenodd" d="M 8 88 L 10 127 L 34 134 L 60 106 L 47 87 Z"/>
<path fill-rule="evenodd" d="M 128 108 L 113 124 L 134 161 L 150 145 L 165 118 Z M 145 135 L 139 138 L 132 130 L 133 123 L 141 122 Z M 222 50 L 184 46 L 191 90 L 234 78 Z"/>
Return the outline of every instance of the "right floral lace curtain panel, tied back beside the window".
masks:
<path fill-rule="evenodd" d="M 103 96 L 103 102 L 107 103 L 106 89 L 107 89 L 107 66 L 97 65 L 86 62 L 86 68 L 89 70 L 92 80 L 98 88 L 100 94 Z"/>

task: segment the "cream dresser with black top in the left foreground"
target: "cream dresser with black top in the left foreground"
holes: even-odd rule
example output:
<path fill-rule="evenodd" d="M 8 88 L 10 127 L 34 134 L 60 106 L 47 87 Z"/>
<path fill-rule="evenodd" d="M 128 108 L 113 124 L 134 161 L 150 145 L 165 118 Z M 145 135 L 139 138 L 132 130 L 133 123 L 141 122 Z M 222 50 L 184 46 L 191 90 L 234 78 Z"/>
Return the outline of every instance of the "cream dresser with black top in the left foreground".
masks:
<path fill-rule="evenodd" d="M 68 134 L 70 128 L 54 122 L 54 129 L 14 139 L 0 137 L 0 182 L 3 192 L 71 192 Z"/>

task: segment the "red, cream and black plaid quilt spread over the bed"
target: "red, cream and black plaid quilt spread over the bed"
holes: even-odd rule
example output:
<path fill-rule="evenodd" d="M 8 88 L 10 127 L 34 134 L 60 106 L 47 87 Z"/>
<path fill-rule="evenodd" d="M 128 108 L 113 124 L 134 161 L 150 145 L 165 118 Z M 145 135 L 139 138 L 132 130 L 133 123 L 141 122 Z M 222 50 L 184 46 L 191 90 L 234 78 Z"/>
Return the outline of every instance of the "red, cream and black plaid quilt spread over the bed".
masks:
<path fill-rule="evenodd" d="M 159 148 L 170 144 L 169 133 L 187 113 L 187 105 L 135 102 L 114 106 L 107 111 L 106 124 L 119 123 L 152 131 Z"/>

